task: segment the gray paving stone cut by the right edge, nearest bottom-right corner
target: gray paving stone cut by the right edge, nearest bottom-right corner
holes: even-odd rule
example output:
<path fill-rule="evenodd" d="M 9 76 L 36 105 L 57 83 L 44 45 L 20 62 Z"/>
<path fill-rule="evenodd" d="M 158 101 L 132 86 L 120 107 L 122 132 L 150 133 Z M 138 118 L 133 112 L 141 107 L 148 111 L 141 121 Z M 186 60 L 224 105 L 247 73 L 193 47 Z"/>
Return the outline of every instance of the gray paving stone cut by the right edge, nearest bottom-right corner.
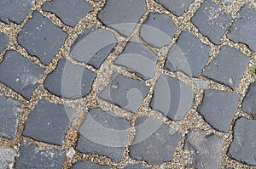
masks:
<path fill-rule="evenodd" d="M 248 165 L 256 166 L 256 121 L 240 118 L 234 127 L 233 142 L 228 155 Z"/>

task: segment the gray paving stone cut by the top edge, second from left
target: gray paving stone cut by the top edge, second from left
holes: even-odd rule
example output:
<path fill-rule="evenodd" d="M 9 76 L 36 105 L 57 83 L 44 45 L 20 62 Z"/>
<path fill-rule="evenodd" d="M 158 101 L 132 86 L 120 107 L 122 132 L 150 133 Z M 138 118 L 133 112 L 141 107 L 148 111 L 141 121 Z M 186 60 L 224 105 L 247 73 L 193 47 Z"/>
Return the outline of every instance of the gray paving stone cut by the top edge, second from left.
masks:
<path fill-rule="evenodd" d="M 42 9 L 56 14 L 64 24 L 74 26 L 93 8 L 84 0 L 53 0 L 44 3 Z"/>

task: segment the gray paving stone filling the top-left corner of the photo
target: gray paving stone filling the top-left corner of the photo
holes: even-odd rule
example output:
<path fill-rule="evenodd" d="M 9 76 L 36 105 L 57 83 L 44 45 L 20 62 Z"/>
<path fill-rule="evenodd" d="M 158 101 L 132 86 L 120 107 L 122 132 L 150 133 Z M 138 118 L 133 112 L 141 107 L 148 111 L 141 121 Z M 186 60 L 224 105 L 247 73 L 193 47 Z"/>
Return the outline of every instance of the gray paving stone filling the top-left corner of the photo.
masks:
<path fill-rule="evenodd" d="M 1 0 L 0 20 L 7 24 L 10 21 L 20 24 L 32 9 L 32 5 L 32 0 Z"/>

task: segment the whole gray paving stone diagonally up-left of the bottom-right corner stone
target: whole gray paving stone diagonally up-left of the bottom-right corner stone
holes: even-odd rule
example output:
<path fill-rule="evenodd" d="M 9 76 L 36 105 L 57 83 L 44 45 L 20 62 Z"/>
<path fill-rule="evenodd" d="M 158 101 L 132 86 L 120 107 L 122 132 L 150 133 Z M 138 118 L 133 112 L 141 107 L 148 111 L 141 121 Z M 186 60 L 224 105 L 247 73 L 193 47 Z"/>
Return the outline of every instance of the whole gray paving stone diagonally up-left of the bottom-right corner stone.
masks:
<path fill-rule="evenodd" d="M 207 90 L 199 107 L 204 119 L 220 132 L 229 132 L 230 122 L 236 114 L 239 94 Z"/>

